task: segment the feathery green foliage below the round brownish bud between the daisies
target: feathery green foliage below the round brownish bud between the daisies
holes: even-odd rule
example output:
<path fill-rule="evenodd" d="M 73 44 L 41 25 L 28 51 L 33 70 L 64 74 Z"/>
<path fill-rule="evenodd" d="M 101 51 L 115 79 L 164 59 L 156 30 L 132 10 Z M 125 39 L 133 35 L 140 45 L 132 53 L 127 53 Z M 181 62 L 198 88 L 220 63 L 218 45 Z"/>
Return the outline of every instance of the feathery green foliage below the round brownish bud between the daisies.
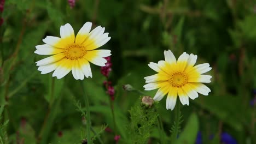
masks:
<path fill-rule="evenodd" d="M 129 142 L 127 143 L 147 143 L 158 118 L 156 109 L 156 103 L 148 109 L 138 106 L 138 104 L 131 108 L 129 111 L 131 123 L 127 125 L 127 131 L 129 131 Z"/>

